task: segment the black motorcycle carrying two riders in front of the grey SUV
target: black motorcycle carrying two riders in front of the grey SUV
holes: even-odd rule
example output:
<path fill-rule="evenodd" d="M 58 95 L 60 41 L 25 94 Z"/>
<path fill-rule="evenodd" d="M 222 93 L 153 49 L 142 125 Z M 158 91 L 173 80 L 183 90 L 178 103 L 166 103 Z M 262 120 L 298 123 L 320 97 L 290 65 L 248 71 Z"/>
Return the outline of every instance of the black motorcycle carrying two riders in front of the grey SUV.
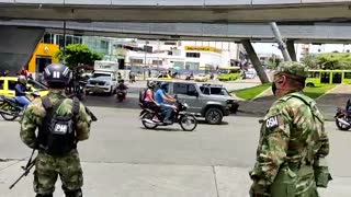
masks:
<path fill-rule="evenodd" d="M 158 126 L 168 126 L 162 123 L 163 117 L 160 112 L 160 107 L 147 108 L 143 103 L 139 104 L 141 107 L 140 118 L 145 128 L 155 129 Z M 181 103 L 177 100 L 176 104 L 172 105 L 172 124 L 179 123 L 180 127 L 185 131 L 193 131 L 197 126 L 197 119 L 194 115 L 186 113 L 189 105 Z M 155 120 L 158 118 L 158 120 Z M 159 121 L 160 120 L 160 121 Z M 172 125 L 171 124 L 171 125 Z"/>

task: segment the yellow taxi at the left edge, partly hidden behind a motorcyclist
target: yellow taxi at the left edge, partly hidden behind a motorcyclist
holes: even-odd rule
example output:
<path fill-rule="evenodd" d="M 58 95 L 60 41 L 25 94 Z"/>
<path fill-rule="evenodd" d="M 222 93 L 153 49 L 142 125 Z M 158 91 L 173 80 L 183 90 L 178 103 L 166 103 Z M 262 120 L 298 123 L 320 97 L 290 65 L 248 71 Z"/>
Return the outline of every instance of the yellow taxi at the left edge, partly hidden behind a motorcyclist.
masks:
<path fill-rule="evenodd" d="M 0 95 L 14 97 L 14 85 L 16 84 L 16 82 L 18 77 L 0 77 Z M 32 90 L 27 92 L 30 97 L 32 92 L 38 92 L 41 97 L 45 96 L 48 93 L 47 86 L 33 80 L 27 80 L 26 86 L 31 88 Z"/>

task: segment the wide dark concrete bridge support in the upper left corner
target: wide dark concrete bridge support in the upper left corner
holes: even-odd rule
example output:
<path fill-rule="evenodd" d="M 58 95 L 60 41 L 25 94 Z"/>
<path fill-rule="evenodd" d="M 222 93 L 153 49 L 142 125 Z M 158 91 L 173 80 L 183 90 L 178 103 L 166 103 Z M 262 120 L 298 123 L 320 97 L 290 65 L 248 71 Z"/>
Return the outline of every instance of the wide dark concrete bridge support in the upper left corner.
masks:
<path fill-rule="evenodd" d="M 0 26 L 0 71 L 16 73 L 25 67 L 44 32 L 37 27 Z"/>

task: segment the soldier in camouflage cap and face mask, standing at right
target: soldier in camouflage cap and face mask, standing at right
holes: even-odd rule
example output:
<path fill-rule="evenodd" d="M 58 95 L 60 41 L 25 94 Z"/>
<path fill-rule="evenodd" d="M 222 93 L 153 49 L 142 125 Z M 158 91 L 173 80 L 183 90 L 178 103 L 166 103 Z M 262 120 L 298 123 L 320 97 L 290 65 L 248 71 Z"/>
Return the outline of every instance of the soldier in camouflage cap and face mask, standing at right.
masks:
<path fill-rule="evenodd" d="M 272 91 L 279 100 L 261 126 L 249 173 L 251 197 L 317 197 L 317 187 L 327 187 L 331 179 L 327 165 L 319 174 L 329 139 L 315 101 L 302 92 L 306 78 L 307 67 L 299 62 L 283 62 L 274 73 Z"/>

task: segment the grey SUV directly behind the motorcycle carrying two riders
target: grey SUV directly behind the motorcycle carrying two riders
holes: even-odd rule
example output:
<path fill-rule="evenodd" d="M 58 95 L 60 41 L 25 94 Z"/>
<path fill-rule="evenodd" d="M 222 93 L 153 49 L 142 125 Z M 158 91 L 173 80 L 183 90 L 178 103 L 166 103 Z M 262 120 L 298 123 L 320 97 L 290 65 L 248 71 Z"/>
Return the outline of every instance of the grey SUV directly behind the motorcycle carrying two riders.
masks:
<path fill-rule="evenodd" d="M 203 84 L 192 81 L 167 81 L 157 80 L 158 84 L 165 82 L 168 84 L 168 93 L 178 95 L 180 101 L 189 104 L 188 112 L 197 117 L 204 117 L 208 124 L 218 125 L 224 116 L 230 114 L 230 108 L 235 100 L 230 96 L 218 96 L 202 92 Z"/>

